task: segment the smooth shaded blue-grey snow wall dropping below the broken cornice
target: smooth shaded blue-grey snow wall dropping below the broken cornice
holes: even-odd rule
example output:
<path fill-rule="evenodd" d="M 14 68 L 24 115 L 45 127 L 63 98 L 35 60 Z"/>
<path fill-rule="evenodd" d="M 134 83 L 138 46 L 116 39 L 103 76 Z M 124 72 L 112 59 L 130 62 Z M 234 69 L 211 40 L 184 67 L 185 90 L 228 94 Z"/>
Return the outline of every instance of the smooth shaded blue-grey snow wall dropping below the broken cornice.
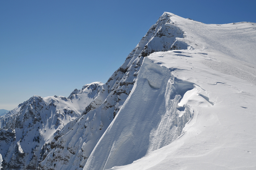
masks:
<path fill-rule="evenodd" d="M 168 68 L 145 58 L 130 96 L 84 169 L 131 164 L 177 139 L 193 116 L 193 110 L 185 105 L 179 115 L 176 107 L 181 96 L 193 88 L 193 83 L 175 80 Z"/>

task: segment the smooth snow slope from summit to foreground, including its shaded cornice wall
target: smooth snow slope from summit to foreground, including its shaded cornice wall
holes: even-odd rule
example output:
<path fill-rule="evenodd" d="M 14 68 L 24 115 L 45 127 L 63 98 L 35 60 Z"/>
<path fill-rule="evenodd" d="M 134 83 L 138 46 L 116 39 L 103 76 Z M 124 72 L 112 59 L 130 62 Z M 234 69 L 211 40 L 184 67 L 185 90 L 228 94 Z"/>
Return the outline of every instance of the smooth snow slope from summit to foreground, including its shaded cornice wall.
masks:
<path fill-rule="evenodd" d="M 255 169 L 256 24 L 161 17 L 187 48 L 144 58 L 84 170 Z"/>

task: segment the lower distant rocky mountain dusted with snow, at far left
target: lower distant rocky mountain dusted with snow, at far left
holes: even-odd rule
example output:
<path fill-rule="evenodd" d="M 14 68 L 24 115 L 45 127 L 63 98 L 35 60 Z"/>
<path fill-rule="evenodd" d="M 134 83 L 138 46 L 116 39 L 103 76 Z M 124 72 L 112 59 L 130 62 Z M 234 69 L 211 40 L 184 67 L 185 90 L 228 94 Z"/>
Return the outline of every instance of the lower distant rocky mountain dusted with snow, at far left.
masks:
<path fill-rule="evenodd" d="M 100 86 L 99 82 L 87 84 L 69 98 L 33 96 L 0 117 L 3 169 L 36 168 L 57 132 L 81 115 Z"/>

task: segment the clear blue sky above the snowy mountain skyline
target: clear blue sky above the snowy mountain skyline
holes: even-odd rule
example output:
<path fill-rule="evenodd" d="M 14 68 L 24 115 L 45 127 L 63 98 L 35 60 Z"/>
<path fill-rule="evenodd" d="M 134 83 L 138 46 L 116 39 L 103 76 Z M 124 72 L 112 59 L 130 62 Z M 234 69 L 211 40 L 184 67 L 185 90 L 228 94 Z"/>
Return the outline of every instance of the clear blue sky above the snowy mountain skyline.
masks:
<path fill-rule="evenodd" d="M 256 23 L 255 0 L 1 0 L 0 109 L 105 83 L 165 12 Z"/>

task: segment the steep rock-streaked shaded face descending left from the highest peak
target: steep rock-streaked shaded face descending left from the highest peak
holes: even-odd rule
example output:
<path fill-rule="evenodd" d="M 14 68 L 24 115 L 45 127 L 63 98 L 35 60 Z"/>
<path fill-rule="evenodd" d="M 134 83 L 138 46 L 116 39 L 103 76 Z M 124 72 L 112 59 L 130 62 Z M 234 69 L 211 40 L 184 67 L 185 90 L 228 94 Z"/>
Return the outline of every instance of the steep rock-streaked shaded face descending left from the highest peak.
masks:
<path fill-rule="evenodd" d="M 60 131 L 57 136 L 62 137 L 52 144 L 52 149 L 48 147 L 49 152 L 45 152 L 46 158 L 39 168 L 82 169 L 133 89 L 144 57 L 152 52 L 190 48 L 186 43 L 177 43 L 176 38 L 183 37 L 183 31 L 173 25 L 168 15 L 162 15 L 128 55 L 125 63 L 100 88 L 84 110 L 85 115 Z"/>

